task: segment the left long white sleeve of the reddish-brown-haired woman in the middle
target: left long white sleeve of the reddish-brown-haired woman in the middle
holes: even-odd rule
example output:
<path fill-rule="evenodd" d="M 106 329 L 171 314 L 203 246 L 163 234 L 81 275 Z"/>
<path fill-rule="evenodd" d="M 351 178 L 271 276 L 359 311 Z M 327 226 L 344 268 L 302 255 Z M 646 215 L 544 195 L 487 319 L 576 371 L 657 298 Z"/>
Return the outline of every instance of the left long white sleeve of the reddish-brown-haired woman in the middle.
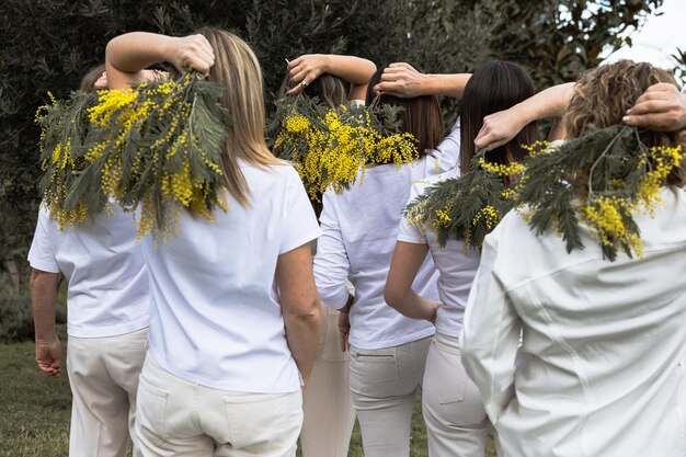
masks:
<path fill-rule="evenodd" d="M 324 192 L 323 209 L 319 222 L 321 224 L 322 236 L 317 241 L 317 255 L 315 255 L 317 290 L 324 304 L 341 309 L 347 302 L 350 295 L 345 286 L 350 260 L 331 191 Z"/>

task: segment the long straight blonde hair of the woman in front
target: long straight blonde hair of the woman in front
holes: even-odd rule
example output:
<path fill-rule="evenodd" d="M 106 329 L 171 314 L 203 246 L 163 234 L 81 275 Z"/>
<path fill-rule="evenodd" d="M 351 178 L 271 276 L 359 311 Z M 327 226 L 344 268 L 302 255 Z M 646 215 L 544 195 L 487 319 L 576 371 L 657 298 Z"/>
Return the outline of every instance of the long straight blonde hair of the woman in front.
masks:
<path fill-rule="evenodd" d="M 250 46 L 229 32 L 205 27 L 197 33 L 207 38 L 215 52 L 209 80 L 227 87 L 221 104 L 229 110 L 232 125 L 221 156 L 224 184 L 241 206 L 250 206 L 250 187 L 239 160 L 258 167 L 284 164 L 272 155 L 264 139 L 265 114 L 260 62 Z"/>

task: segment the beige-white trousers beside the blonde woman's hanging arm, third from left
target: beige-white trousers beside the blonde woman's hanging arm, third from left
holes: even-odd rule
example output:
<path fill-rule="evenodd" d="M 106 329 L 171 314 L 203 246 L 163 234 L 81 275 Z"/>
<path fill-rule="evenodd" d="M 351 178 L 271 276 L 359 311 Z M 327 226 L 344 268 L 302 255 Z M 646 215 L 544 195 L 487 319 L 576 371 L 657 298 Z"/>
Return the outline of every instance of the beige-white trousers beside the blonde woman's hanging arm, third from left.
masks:
<path fill-rule="evenodd" d="M 355 425 L 350 355 L 339 342 L 339 311 L 321 304 L 323 317 L 312 374 L 302 390 L 302 457 L 347 457 Z"/>

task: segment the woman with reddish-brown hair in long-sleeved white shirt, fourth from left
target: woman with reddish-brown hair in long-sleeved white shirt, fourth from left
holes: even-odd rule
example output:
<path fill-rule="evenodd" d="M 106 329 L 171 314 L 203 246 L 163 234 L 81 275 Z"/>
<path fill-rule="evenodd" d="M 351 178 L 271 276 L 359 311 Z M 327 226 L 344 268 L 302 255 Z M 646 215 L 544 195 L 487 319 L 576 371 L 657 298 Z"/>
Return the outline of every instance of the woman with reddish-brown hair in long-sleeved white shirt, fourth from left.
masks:
<path fill-rule="evenodd" d="M 370 87 L 380 81 L 381 71 L 371 78 Z M 461 88 L 454 90 L 461 92 Z M 368 90 L 367 103 L 375 96 Z M 384 285 L 412 182 L 456 167 L 459 130 L 441 142 L 436 96 L 382 95 L 379 103 L 404 107 L 401 130 L 418 138 L 421 157 L 402 165 L 369 164 L 361 184 L 340 195 L 324 193 L 315 278 L 322 301 L 341 310 L 342 347 L 351 352 L 350 385 L 365 456 L 407 457 L 414 398 L 434 330 L 430 322 L 389 308 Z M 346 279 L 355 288 L 354 298 Z M 420 267 L 414 286 L 437 298 L 436 270 L 430 259 Z"/>

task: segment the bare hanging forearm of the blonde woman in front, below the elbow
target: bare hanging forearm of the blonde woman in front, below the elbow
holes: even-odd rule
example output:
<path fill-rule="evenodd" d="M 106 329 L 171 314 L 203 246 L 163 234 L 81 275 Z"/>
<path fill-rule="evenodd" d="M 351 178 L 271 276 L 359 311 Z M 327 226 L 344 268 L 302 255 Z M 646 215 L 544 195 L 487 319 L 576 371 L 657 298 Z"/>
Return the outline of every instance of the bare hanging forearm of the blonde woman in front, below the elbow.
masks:
<path fill-rule="evenodd" d="M 321 331 L 319 306 L 310 315 L 284 316 L 284 322 L 288 347 L 302 379 L 307 381 L 312 372 L 315 355 L 319 346 L 319 333 Z"/>

